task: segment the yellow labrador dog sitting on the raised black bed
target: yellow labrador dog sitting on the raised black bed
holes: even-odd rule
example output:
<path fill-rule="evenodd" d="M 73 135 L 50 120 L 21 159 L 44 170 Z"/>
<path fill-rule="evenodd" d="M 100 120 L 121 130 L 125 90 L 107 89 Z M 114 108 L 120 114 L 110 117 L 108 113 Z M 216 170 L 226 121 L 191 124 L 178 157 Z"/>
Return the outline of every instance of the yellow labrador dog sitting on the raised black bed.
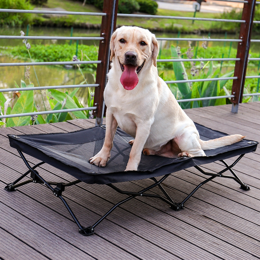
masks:
<path fill-rule="evenodd" d="M 104 91 L 106 135 L 90 163 L 106 166 L 117 126 L 135 139 L 126 167 L 137 170 L 142 151 L 164 157 L 205 156 L 203 150 L 241 141 L 235 134 L 203 141 L 193 121 L 181 109 L 167 84 L 158 76 L 158 43 L 150 31 L 122 26 L 110 42 L 112 67 Z"/>

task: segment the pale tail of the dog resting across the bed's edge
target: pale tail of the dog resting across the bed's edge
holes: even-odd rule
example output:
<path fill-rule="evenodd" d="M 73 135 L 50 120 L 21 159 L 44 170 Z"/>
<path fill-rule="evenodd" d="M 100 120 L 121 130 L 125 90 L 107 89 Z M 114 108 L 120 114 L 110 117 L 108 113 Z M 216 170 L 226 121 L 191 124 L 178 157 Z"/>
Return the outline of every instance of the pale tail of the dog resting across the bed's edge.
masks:
<path fill-rule="evenodd" d="M 201 145 L 201 148 L 203 150 L 209 150 L 209 149 L 216 149 L 219 147 L 223 147 L 226 145 L 235 144 L 236 142 L 241 141 L 245 136 L 242 136 L 240 134 L 232 134 L 223 136 L 217 139 L 207 140 L 203 141 L 199 139 L 199 143 Z"/>

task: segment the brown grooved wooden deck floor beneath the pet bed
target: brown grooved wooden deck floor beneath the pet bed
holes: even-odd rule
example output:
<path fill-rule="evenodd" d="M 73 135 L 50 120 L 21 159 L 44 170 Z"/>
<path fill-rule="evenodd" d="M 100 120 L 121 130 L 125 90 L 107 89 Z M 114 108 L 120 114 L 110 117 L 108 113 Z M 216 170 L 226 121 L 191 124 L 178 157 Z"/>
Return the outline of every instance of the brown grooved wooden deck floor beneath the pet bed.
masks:
<path fill-rule="evenodd" d="M 240 133 L 260 140 L 260 102 L 187 109 L 195 122 L 229 134 Z M 202 186 L 173 211 L 153 198 L 130 200 L 95 228 L 95 234 L 78 233 L 62 202 L 40 184 L 28 184 L 14 192 L 4 186 L 27 171 L 6 134 L 67 132 L 94 126 L 91 120 L 0 129 L 0 259 L 260 259 L 260 156 L 259 148 L 246 154 L 234 167 L 250 191 L 230 179 L 214 179 Z M 35 163 L 36 159 L 29 158 Z M 231 160 L 227 160 L 231 162 Z M 215 171 L 218 163 L 205 165 Z M 46 179 L 71 181 L 73 177 L 52 167 L 42 169 Z M 205 177 L 195 169 L 172 174 L 165 186 L 177 201 Z M 131 181 L 120 186 L 142 187 Z M 82 225 L 93 224 L 123 195 L 106 185 L 80 183 L 64 192 Z M 123 196 L 124 197 L 124 196 Z"/>

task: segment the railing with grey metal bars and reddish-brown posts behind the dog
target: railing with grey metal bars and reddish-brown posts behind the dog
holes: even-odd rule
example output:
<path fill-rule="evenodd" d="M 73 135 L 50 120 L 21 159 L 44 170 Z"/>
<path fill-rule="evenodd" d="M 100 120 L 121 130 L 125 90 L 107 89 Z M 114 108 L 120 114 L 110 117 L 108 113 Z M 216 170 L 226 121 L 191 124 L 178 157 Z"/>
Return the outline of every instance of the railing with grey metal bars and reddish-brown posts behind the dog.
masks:
<path fill-rule="evenodd" d="M 224 1 L 224 0 L 218 0 Z M 183 83 L 183 82 L 197 82 L 197 81 L 218 81 L 218 80 L 233 80 L 232 94 L 225 96 L 216 97 L 202 97 L 198 99 L 186 99 L 178 100 L 178 102 L 185 101 L 198 101 L 208 99 L 219 99 L 219 98 L 231 98 L 233 103 L 232 112 L 237 112 L 239 102 L 242 102 L 243 87 L 246 78 L 259 78 L 260 76 L 246 76 L 247 62 L 250 60 L 260 60 L 259 58 L 249 58 L 249 47 L 250 42 L 260 42 L 260 40 L 251 40 L 251 30 L 253 23 L 260 23 L 260 21 L 254 21 L 254 8 L 255 4 L 260 2 L 252 1 L 241 1 L 241 0 L 228 0 L 230 2 L 243 3 L 243 14 L 241 20 L 230 20 L 230 19 L 211 19 L 211 18 L 196 18 L 196 17 L 177 17 L 177 16 L 161 16 L 161 15 L 141 15 L 141 14 L 117 14 L 118 0 L 104 0 L 103 12 L 91 13 L 91 12 L 69 12 L 69 11 L 46 11 L 46 10 L 12 10 L 12 9 L 0 9 L 0 12 L 21 12 L 21 13 L 35 13 L 35 14 L 64 14 L 64 15 L 95 15 L 102 17 L 100 37 L 58 37 L 58 36 L 10 36 L 1 35 L 0 39 L 46 39 L 46 40 L 99 40 L 99 56 L 97 61 L 62 61 L 62 62 L 19 62 L 19 63 L 2 63 L 0 66 L 40 66 L 40 65 L 72 65 L 72 64 L 97 64 L 96 71 L 96 82 L 95 84 L 75 84 L 75 85 L 62 85 L 62 86 L 42 86 L 32 88 L 6 88 L 0 89 L 0 92 L 12 92 L 12 91 L 27 91 L 27 90 L 43 90 L 43 89 L 59 89 L 59 88 L 75 88 L 75 87 L 95 87 L 94 106 L 75 108 L 75 109 L 62 109 L 62 110 L 50 110 L 42 112 L 32 112 L 15 115 L 0 115 L 0 119 L 9 117 L 20 117 L 20 116 L 31 116 L 40 114 L 51 114 L 60 112 L 70 112 L 78 110 L 94 110 L 93 114 L 96 116 L 96 124 L 102 123 L 104 114 L 105 104 L 103 101 L 103 90 L 107 81 L 107 72 L 109 68 L 109 41 L 110 36 L 116 28 L 116 17 L 139 17 L 141 18 L 155 18 L 155 19 L 176 19 L 176 20 L 193 20 L 193 21 L 215 21 L 215 22 L 231 22 L 241 23 L 241 30 L 238 39 L 212 39 L 212 38 L 169 38 L 169 37 L 158 37 L 157 40 L 164 41 L 216 41 L 216 42 L 237 42 L 237 56 L 232 58 L 211 58 L 211 59 L 158 59 L 158 62 L 180 62 L 180 61 L 235 61 L 235 72 L 232 77 L 219 77 L 211 79 L 195 79 L 195 80 L 172 80 L 166 81 L 166 83 Z M 260 95 L 255 94 L 244 94 L 248 95 Z"/>

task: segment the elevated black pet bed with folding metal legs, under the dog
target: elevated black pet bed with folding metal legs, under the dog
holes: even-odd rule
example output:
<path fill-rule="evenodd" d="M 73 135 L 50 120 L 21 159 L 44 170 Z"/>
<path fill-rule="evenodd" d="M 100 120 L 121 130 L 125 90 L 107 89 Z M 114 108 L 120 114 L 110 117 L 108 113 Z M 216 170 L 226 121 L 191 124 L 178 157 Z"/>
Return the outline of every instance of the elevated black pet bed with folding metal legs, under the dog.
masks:
<path fill-rule="evenodd" d="M 196 124 L 196 127 L 202 140 L 215 139 L 226 135 L 225 133 L 212 130 L 199 124 Z M 138 171 L 125 172 L 124 170 L 126 168 L 131 150 L 131 145 L 128 144 L 128 141 L 131 140 L 132 137 L 119 128 L 116 131 L 114 146 L 111 151 L 111 159 L 108 161 L 107 166 L 97 167 L 90 164 L 88 161 L 90 157 L 92 157 L 101 149 L 105 139 L 105 128 L 105 125 L 102 125 L 70 133 L 29 135 L 8 134 L 10 146 L 17 149 L 29 170 L 13 183 L 9 183 L 5 189 L 7 191 L 14 191 L 17 187 L 31 182 L 45 185 L 51 190 L 51 192 L 53 192 L 56 197 L 59 197 L 62 200 L 74 221 L 78 225 L 79 232 L 82 235 L 90 235 L 94 233 L 94 228 L 116 207 L 137 196 L 155 197 L 162 199 L 164 202 L 170 204 L 172 209 L 178 211 L 184 208 L 184 203 L 192 196 L 195 191 L 199 189 L 199 187 L 216 177 L 232 178 L 241 185 L 242 189 L 250 190 L 250 187 L 244 184 L 235 174 L 235 172 L 232 170 L 232 167 L 244 156 L 244 154 L 255 151 L 258 142 L 243 139 L 242 141 L 233 145 L 214 150 L 207 150 L 205 151 L 205 157 L 165 158 L 155 155 L 142 155 Z M 31 155 L 41 160 L 41 162 L 34 166 L 30 166 L 23 153 Z M 234 162 L 231 165 L 228 165 L 224 161 L 224 159 L 236 156 L 238 157 L 234 159 Z M 199 167 L 199 165 L 215 161 L 222 162 L 225 167 L 218 173 L 208 173 Z M 39 166 L 44 163 L 69 173 L 77 180 L 70 183 L 54 183 L 46 181 L 39 173 L 41 171 L 41 167 Z M 210 177 L 200 183 L 182 202 L 176 203 L 167 194 L 161 183 L 171 173 L 192 166 L 201 173 Z M 223 173 L 226 171 L 229 171 L 231 174 L 224 175 Z M 29 173 L 31 178 L 24 182 L 20 182 Z M 116 187 L 116 185 L 114 185 L 114 183 L 118 182 L 147 178 L 152 179 L 154 184 L 139 192 L 122 191 Z M 83 227 L 77 220 L 73 211 L 70 209 L 66 200 L 62 197 L 62 192 L 65 190 L 65 187 L 75 185 L 82 181 L 88 184 L 106 184 L 117 192 L 128 195 L 128 197 L 115 204 L 107 213 L 105 213 L 99 220 L 97 220 L 96 223 L 89 227 Z M 159 187 L 162 195 L 148 193 L 150 189 L 156 186 Z"/>

